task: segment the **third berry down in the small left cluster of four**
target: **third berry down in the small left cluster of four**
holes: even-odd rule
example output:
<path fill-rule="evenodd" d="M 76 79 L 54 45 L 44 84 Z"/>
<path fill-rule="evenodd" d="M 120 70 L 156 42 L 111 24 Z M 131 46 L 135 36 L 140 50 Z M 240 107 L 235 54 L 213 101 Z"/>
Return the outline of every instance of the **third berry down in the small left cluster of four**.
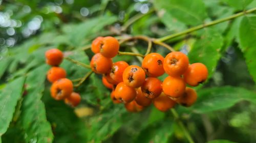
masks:
<path fill-rule="evenodd" d="M 73 92 L 73 83 L 68 78 L 61 78 L 53 82 L 51 86 L 51 96 L 56 100 L 62 100 Z"/>

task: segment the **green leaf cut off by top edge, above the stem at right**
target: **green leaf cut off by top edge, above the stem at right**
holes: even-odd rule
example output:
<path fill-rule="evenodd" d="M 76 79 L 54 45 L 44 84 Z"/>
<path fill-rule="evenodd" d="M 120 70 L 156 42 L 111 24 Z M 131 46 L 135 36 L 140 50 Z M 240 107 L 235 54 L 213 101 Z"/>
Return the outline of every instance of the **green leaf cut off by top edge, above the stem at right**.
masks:
<path fill-rule="evenodd" d="M 237 10 L 244 10 L 253 0 L 222 0 Z"/>

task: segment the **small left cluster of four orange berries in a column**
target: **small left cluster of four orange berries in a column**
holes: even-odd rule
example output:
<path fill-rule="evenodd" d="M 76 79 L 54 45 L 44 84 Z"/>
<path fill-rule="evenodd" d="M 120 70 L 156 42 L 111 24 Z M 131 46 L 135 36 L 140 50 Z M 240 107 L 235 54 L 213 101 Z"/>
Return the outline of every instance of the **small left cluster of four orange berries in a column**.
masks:
<path fill-rule="evenodd" d="M 50 49 L 46 51 L 46 63 L 51 67 L 47 72 L 47 79 L 52 82 L 51 96 L 55 100 L 65 100 L 65 103 L 71 106 L 77 106 L 81 97 L 73 92 L 73 83 L 66 78 L 66 71 L 58 67 L 63 60 L 63 53 L 59 49 Z"/>

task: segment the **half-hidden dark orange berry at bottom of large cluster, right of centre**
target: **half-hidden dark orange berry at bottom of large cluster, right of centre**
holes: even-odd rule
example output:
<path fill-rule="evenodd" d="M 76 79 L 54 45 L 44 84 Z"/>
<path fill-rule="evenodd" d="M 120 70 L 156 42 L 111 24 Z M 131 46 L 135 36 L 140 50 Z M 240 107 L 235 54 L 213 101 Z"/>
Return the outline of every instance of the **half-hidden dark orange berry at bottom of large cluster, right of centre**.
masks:
<path fill-rule="evenodd" d="M 158 110 L 165 112 L 168 109 L 174 107 L 176 102 L 170 99 L 164 93 L 161 93 L 160 96 L 153 100 L 153 104 Z"/>

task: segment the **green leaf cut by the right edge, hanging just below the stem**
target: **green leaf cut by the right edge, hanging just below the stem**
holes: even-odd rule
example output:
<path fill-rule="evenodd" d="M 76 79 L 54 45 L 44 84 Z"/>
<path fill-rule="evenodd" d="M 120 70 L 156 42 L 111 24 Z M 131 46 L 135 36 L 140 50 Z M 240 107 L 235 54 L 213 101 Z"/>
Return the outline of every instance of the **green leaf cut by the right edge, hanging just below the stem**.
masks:
<path fill-rule="evenodd" d="M 244 17 L 239 27 L 239 44 L 244 57 L 248 70 L 256 82 L 256 16 Z"/>

